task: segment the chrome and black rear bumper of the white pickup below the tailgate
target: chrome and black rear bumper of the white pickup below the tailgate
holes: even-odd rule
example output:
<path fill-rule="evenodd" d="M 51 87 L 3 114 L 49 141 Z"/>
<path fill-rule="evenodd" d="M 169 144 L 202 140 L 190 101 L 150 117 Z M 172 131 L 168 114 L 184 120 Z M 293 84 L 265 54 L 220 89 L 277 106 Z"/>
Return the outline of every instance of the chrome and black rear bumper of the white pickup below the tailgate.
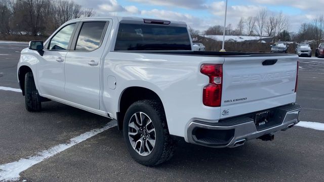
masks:
<path fill-rule="evenodd" d="M 187 129 L 188 141 L 213 148 L 233 148 L 251 139 L 273 140 L 271 133 L 287 130 L 299 122 L 300 110 L 298 104 L 269 109 L 267 111 L 272 113 L 272 118 L 260 126 L 255 124 L 256 113 L 219 120 L 217 123 L 195 120 Z"/>

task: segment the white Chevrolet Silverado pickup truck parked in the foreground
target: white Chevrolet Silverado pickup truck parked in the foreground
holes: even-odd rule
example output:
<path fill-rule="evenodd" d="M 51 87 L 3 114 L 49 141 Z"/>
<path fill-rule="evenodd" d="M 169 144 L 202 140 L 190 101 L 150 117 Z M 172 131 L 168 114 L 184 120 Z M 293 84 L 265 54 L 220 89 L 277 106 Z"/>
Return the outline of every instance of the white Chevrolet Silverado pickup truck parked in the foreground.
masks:
<path fill-rule="evenodd" d="M 147 166 L 172 157 L 176 136 L 215 148 L 272 140 L 301 110 L 297 55 L 195 52 L 176 21 L 71 20 L 30 41 L 17 71 L 28 111 L 53 100 L 115 119 Z"/>

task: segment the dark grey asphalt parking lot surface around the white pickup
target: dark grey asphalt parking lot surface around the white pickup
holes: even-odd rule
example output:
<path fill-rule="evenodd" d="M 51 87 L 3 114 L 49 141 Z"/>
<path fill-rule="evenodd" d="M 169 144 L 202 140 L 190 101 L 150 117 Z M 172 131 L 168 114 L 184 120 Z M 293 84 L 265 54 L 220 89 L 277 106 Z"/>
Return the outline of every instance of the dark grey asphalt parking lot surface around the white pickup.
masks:
<path fill-rule="evenodd" d="M 1 164 L 39 155 L 109 121 L 53 101 L 42 103 L 42 112 L 27 112 L 21 93 L 8 90 L 19 88 L 17 62 L 25 47 L 0 42 L 0 169 Z M 301 121 L 324 123 L 323 90 L 324 59 L 301 58 L 297 94 L 297 103 L 303 106 Z M 18 180 L 324 181 L 323 130 L 295 126 L 277 132 L 272 142 L 253 140 L 234 149 L 179 141 L 170 161 L 151 168 L 132 160 L 116 127 L 97 133 L 66 150 L 53 149 L 56 155 L 27 167 Z"/>

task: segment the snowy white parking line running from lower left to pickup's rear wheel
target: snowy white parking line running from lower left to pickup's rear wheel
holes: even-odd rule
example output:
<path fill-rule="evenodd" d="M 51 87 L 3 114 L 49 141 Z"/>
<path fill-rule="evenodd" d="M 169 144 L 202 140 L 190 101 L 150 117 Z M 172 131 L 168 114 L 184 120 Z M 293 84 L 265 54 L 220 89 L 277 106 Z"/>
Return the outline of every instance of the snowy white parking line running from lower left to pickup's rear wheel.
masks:
<path fill-rule="evenodd" d="M 116 120 L 113 120 L 107 123 L 103 128 L 93 129 L 70 139 L 70 142 L 67 144 L 60 144 L 48 150 L 39 152 L 38 155 L 19 159 L 18 161 L 8 164 L 2 164 L 0 165 L 0 181 L 16 181 L 20 177 L 20 172 L 116 125 Z"/>

